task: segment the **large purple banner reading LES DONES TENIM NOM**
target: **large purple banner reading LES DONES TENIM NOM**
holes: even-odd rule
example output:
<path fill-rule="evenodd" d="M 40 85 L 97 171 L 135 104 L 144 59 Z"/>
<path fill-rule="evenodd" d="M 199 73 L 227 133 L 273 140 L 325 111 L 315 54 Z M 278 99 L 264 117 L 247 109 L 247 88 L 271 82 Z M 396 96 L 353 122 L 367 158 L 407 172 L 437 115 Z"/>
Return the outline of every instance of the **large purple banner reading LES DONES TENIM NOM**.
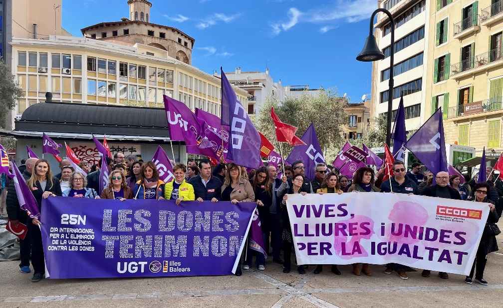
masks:
<path fill-rule="evenodd" d="M 46 277 L 229 275 L 257 206 L 68 198 L 42 201 Z"/>

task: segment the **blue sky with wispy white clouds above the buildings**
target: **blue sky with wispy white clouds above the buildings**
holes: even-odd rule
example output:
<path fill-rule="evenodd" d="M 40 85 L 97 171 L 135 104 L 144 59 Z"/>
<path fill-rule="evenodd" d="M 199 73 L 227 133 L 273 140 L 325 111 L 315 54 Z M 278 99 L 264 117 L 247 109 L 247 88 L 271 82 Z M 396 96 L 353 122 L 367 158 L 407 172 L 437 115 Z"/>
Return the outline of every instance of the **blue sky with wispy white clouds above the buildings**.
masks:
<path fill-rule="evenodd" d="M 150 0 L 150 22 L 196 40 L 192 65 L 212 74 L 262 71 L 274 81 L 337 87 L 352 102 L 371 89 L 371 63 L 356 61 L 376 0 Z M 128 17 L 127 0 L 63 0 L 63 28 L 80 29 Z"/>

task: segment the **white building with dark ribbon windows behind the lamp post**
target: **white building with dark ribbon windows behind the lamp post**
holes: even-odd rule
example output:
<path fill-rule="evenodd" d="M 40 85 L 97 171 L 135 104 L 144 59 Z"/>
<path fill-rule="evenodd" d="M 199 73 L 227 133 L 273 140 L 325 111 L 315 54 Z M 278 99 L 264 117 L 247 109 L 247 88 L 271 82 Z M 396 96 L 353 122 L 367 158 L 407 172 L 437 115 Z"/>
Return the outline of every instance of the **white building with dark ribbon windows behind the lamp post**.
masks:
<path fill-rule="evenodd" d="M 375 37 L 385 59 L 372 63 L 371 116 L 386 115 L 388 96 L 393 95 L 393 114 L 398 109 L 400 95 L 405 107 L 407 131 L 419 128 L 425 120 L 427 98 L 423 91 L 427 82 L 428 40 L 430 37 L 430 0 L 378 1 L 393 16 L 395 22 L 393 93 L 389 92 L 391 24 L 387 15 L 379 13 L 374 25 Z M 393 117 L 394 119 L 394 117 Z"/>

